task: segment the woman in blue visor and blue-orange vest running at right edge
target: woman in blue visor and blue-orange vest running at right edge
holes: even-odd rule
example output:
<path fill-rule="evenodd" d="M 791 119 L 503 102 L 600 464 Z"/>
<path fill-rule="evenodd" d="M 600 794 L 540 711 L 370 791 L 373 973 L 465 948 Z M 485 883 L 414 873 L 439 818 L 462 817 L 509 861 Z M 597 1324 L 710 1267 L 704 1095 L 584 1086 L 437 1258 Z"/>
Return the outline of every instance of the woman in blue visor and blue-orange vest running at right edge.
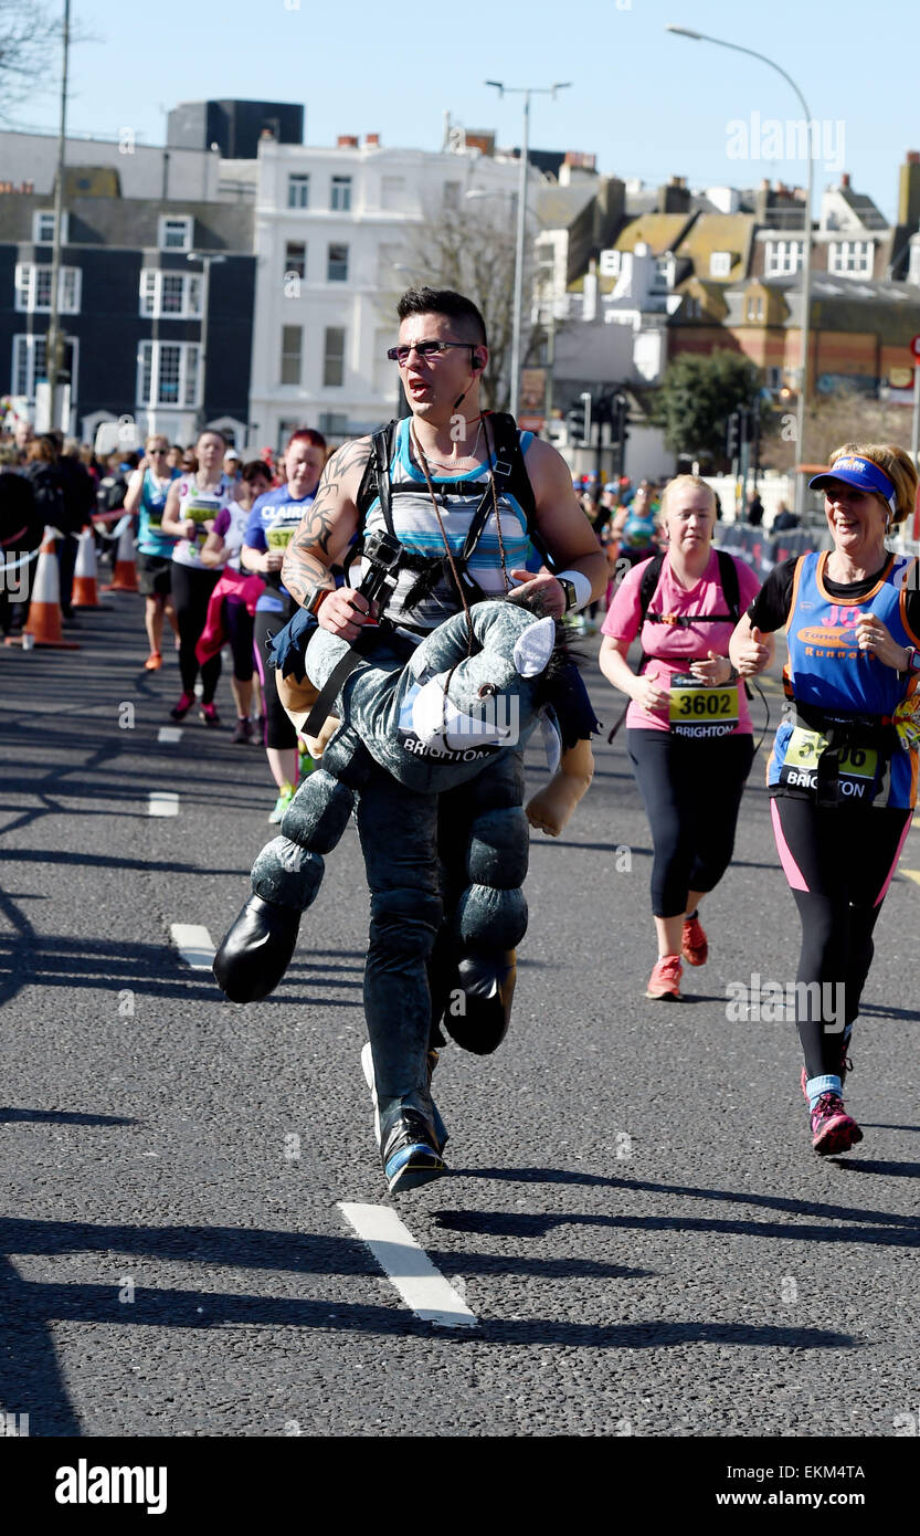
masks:
<path fill-rule="evenodd" d="M 811 1144 L 826 1155 L 863 1138 L 842 1097 L 849 1038 L 917 800 L 918 562 L 885 547 L 914 507 L 917 472 L 902 449 L 848 444 L 811 485 L 825 492 L 834 547 L 771 571 L 730 656 L 753 677 L 769 664 L 771 631 L 786 625 L 786 711 L 766 783 L 802 920 L 802 1089 Z"/>

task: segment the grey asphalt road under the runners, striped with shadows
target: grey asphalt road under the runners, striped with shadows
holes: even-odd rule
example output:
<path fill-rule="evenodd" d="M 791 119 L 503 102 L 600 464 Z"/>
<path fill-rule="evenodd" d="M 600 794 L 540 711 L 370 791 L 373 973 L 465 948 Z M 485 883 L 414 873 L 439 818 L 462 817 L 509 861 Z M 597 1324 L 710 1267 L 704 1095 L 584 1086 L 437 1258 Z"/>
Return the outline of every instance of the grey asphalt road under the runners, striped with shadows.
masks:
<path fill-rule="evenodd" d="M 621 740 L 601 745 L 568 829 L 531 845 L 508 1038 L 438 1069 L 450 1177 L 392 1201 L 353 828 L 276 995 L 226 1003 L 170 925 L 217 943 L 246 897 L 264 754 L 194 716 L 158 743 L 175 660 L 146 674 L 140 599 L 106 601 L 80 651 L 0 651 L 0 1409 L 31 1436 L 900 1433 L 920 886 L 892 885 L 857 1025 L 865 1141 L 819 1161 L 793 1026 L 726 1017 L 728 983 L 796 974 L 763 757 L 710 963 L 668 1006 L 642 995 L 648 829 Z M 226 682 L 218 702 L 232 723 Z M 151 817 L 154 791 L 178 814 Z M 396 1207 L 478 1327 L 415 1318 L 343 1201 Z"/>

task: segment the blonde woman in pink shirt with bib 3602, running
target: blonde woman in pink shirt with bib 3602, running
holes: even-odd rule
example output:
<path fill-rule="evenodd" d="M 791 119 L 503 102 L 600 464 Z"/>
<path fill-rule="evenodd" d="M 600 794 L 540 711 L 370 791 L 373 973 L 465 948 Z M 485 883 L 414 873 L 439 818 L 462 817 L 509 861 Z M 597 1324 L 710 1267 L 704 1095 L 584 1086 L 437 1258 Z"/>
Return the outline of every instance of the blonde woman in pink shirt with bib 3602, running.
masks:
<path fill-rule="evenodd" d="M 713 490 L 696 475 L 679 475 L 665 490 L 660 515 L 668 550 L 642 633 L 648 562 L 634 565 L 616 590 L 599 662 L 631 700 L 627 750 L 654 845 L 651 911 L 659 957 L 645 995 L 677 998 L 680 958 L 705 965 L 708 957 L 697 908 L 731 862 L 754 742 L 745 690 L 728 660 L 736 619 L 713 548 Z M 743 561 L 733 564 L 743 613 L 760 582 Z M 639 674 L 627 662 L 637 634 Z"/>

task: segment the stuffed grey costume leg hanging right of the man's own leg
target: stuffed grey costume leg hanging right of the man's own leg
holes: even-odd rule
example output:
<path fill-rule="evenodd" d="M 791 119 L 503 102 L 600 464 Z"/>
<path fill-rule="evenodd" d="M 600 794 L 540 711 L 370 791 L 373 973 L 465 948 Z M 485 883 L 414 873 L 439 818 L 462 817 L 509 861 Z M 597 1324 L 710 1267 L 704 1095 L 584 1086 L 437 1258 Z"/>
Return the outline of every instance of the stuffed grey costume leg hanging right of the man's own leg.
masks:
<path fill-rule="evenodd" d="M 479 774 L 467 790 L 465 848 L 461 866 L 453 866 L 453 966 L 444 1028 L 476 1055 L 488 1055 L 504 1040 L 516 978 L 516 945 L 527 931 L 524 877 L 530 848 L 522 809 L 524 768 L 508 754 Z M 462 877 L 459 876 L 462 869 Z M 464 882 L 462 889 L 458 885 Z"/>

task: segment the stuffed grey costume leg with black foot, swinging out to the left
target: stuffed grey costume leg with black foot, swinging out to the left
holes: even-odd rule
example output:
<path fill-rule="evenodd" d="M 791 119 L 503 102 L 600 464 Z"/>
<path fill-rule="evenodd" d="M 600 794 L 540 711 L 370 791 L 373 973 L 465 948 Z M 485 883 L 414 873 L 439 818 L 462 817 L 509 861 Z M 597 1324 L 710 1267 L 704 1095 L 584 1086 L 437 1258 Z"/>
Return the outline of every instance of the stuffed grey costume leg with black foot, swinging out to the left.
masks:
<path fill-rule="evenodd" d="M 266 843 L 252 866 L 252 895 L 213 957 L 213 974 L 232 1003 L 273 992 L 287 971 L 301 912 L 323 882 L 324 854 L 338 843 L 355 791 L 318 768 L 284 813 L 281 837 Z"/>

